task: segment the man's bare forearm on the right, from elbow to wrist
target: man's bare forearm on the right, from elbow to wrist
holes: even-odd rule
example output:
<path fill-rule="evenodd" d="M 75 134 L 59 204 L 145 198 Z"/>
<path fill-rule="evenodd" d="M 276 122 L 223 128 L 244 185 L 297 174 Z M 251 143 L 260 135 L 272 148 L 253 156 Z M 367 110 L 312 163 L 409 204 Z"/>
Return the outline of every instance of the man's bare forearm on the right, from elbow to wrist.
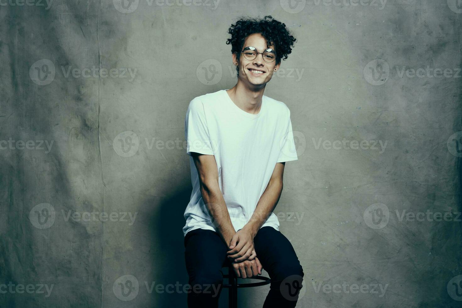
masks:
<path fill-rule="evenodd" d="M 274 211 L 281 196 L 282 187 L 283 184 L 280 180 L 269 181 L 265 191 L 258 200 L 252 217 L 250 217 L 249 222 L 243 227 L 243 229 L 249 229 L 253 237 L 255 237 L 263 223 L 265 223 L 269 215 Z"/>

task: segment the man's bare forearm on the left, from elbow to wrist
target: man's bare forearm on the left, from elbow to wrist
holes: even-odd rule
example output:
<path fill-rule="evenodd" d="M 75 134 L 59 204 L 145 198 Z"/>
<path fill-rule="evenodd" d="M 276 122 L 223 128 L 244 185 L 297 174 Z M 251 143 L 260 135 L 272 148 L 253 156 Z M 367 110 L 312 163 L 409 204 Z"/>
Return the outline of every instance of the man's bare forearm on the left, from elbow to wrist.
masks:
<path fill-rule="evenodd" d="M 203 184 L 201 193 L 202 199 L 212 216 L 213 225 L 226 245 L 229 246 L 231 238 L 236 233 L 236 230 L 232 225 L 228 208 L 226 207 L 225 199 L 223 198 L 218 183 L 210 185 Z"/>

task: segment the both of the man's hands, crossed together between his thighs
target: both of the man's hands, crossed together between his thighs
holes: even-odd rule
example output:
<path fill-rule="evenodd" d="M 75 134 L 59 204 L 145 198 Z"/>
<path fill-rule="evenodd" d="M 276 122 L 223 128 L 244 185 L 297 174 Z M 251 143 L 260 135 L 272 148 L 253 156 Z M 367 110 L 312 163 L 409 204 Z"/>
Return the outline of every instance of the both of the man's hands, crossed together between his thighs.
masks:
<path fill-rule="evenodd" d="M 261 275 L 262 266 L 256 257 L 254 237 L 247 229 L 240 229 L 231 238 L 227 258 L 231 261 L 237 278 Z"/>

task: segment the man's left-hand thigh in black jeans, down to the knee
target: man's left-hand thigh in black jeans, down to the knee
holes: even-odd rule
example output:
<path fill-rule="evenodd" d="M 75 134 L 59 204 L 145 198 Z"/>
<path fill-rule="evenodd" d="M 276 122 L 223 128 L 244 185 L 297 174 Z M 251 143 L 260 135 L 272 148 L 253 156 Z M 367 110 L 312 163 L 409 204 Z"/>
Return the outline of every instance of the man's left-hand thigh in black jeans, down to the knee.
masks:
<path fill-rule="evenodd" d="M 228 248 L 219 234 L 212 230 L 195 229 L 184 239 L 184 256 L 190 280 L 216 280 L 226 261 Z M 205 276 L 205 277 L 204 277 Z"/>

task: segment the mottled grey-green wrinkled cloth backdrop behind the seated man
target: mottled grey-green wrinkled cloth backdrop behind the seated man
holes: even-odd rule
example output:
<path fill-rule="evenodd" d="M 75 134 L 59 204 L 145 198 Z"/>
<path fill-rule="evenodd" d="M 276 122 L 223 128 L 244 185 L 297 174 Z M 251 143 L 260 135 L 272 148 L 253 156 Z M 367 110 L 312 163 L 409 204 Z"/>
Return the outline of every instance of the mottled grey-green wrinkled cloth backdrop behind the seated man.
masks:
<path fill-rule="evenodd" d="M 298 145 L 297 307 L 459 307 L 460 1 L 123 1 L 0 1 L 1 307 L 186 307 L 184 117 L 235 85 L 243 15 L 298 39 L 265 91 Z"/>

